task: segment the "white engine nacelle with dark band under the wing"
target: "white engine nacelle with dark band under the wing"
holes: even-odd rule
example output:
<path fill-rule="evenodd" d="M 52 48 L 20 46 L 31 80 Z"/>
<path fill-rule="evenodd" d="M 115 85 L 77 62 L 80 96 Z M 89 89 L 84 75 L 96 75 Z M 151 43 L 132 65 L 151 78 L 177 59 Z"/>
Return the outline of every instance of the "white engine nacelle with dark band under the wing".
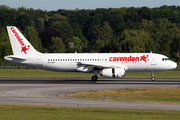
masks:
<path fill-rule="evenodd" d="M 101 71 L 101 76 L 103 77 L 124 77 L 124 68 L 107 68 Z"/>

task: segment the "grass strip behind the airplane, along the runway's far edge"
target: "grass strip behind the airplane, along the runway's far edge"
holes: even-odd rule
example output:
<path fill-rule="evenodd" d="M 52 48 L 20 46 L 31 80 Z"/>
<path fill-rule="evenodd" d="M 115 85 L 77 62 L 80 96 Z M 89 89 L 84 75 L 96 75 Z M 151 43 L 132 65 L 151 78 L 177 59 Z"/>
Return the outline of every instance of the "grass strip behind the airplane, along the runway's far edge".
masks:
<path fill-rule="evenodd" d="M 40 69 L 0 69 L 0 77 L 16 78 L 91 78 L 93 74 L 53 72 Z M 156 78 L 180 78 L 180 71 L 155 72 Z M 102 78 L 99 75 L 99 78 Z M 125 78 L 151 78 L 150 72 L 130 72 Z"/>

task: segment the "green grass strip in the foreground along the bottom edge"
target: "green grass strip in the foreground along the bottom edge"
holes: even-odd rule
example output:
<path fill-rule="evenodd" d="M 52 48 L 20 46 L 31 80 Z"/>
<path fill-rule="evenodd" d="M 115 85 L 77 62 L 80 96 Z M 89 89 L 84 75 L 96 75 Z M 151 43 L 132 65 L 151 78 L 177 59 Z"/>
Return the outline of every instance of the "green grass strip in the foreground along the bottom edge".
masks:
<path fill-rule="evenodd" d="M 179 120 L 178 110 L 0 104 L 1 120 Z"/>

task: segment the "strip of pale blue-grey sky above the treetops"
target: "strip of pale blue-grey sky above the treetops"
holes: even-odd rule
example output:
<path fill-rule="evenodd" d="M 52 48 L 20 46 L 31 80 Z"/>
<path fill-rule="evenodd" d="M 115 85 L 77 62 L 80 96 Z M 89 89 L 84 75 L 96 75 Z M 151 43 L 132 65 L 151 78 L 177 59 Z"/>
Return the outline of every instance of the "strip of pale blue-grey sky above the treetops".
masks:
<path fill-rule="evenodd" d="M 160 7 L 163 5 L 180 6 L 180 0 L 0 0 L 0 5 L 11 8 L 25 7 L 56 11 L 58 9 L 74 10 L 120 7 Z"/>

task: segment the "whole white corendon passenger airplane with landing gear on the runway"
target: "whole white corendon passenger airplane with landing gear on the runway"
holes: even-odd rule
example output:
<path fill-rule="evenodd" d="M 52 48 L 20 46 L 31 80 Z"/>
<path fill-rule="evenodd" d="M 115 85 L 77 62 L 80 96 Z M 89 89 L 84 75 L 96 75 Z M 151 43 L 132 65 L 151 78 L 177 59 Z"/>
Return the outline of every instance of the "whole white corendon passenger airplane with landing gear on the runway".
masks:
<path fill-rule="evenodd" d="M 177 64 L 167 56 L 156 53 L 40 53 L 15 26 L 7 26 L 13 55 L 4 59 L 14 63 L 58 72 L 94 73 L 92 80 L 103 77 L 122 78 L 126 72 L 172 70 Z"/>

